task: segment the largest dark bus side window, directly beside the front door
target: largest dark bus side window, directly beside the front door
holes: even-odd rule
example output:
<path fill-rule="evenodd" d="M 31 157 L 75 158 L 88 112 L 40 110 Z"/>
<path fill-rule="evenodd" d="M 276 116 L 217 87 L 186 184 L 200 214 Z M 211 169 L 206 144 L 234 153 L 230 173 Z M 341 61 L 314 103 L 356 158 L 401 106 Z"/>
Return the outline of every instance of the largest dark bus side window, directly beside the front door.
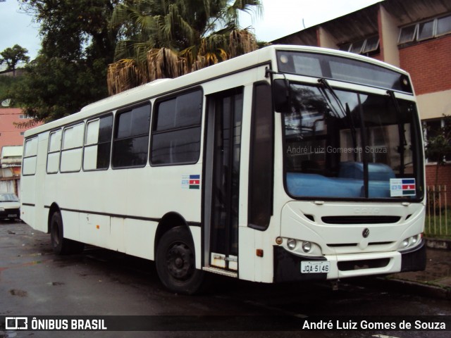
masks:
<path fill-rule="evenodd" d="M 202 99 L 202 90 L 197 90 L 157 104 L 152 129 L 152 165 L 199 160 Z"/>

